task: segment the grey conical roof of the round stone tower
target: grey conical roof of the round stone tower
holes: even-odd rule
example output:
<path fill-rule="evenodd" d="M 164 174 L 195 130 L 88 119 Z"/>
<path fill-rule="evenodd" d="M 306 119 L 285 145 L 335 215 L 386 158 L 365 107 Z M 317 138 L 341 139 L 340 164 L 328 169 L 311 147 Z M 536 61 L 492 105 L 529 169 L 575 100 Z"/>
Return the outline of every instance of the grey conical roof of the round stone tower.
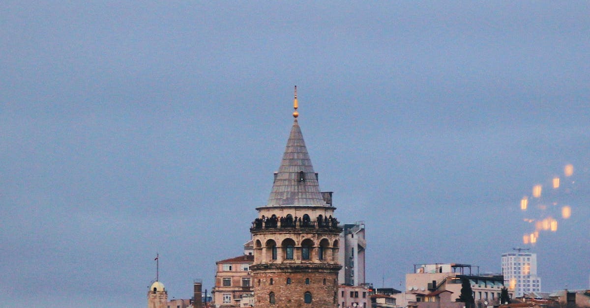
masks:
<path fill-rule="evenodd" d="M 303 181 L 300 172 L 303 171 Z M 280 205 L 313 205 L 328 207 L 320 193 L 312 160 L 309 159 L 297 119 L 293 122 L 281 166 L 268 197 L 268 207 Z"/>

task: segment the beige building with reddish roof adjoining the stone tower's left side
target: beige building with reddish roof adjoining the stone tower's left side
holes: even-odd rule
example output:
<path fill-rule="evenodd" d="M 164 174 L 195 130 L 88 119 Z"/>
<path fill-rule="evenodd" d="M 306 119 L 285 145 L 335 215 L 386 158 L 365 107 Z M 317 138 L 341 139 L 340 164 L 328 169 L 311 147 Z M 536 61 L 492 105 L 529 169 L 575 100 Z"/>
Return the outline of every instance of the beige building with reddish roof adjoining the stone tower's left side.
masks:
<path fill-rule="evenodd" d="M 253 294 L 250 271 L 253 261 L 254 255 L 244 254 L 215 262 L 217 273 L 211 291 L 215 307 L 242 307 L 242 297 Z"/>

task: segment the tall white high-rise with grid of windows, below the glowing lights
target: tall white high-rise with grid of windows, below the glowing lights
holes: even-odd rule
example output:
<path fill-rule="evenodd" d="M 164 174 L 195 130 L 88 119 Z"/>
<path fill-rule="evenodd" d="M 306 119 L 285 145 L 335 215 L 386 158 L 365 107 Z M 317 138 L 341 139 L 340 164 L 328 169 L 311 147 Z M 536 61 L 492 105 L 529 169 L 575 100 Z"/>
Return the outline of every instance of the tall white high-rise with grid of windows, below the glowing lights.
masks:
<path fill-rule="evenodd" d="M 537 277 L 537 254 L 515 248 L 513 253 L 502 254 L 502 274 L 516 297 L 525 293 L 540 292 L 541 278 Z"/>

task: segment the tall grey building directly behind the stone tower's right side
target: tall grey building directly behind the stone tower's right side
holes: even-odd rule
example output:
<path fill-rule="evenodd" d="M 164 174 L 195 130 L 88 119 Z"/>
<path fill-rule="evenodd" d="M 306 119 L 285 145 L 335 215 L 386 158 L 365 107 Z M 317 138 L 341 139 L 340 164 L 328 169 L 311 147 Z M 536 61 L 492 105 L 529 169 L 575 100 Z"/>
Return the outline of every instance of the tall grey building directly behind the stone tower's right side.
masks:
<path fill-rule="evenodd" d="M 338 283 L 347 286 L 365 284 L 365 249 L 365 223 L 343 225 L 338 255 L 342 269 L 338 273 Z"/>

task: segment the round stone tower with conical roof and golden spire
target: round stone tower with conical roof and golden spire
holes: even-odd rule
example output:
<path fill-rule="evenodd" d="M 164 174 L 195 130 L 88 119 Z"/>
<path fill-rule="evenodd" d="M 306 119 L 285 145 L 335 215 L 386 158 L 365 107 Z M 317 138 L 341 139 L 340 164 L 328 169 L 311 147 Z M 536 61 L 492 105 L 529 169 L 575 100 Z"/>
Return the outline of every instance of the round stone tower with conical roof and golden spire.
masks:
<path fill-rule="evenodd" d="M 332 193 L 322 193 L 297 122 L 293 126 L 268 202 L 256 208 L 255 306 L 336 308 L 339 235 Z"/>

